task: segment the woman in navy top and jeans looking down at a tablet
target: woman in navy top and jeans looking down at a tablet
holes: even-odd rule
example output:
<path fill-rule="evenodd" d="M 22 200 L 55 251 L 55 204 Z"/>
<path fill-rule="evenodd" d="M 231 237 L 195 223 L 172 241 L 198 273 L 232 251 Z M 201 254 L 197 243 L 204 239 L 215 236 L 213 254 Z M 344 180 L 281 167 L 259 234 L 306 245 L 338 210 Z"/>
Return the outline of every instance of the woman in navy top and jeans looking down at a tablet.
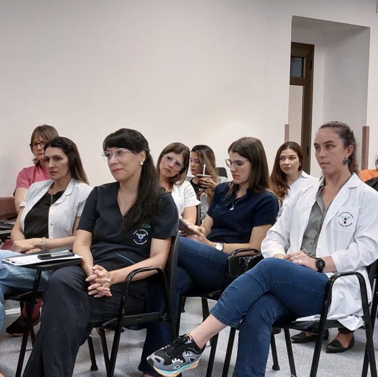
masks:
<path fill-rule="evenodd" d="M 228 255 L 241 248 L 260 249 L 275 223 L 279 204 L 269 190 L 269 172 L 260 140 L 243 137 L 228 148 L 233 180 L 219 184 L 201 226 L 181 239 L 174 310 L 178 295 L 213 292 L 224 286 Z"/>

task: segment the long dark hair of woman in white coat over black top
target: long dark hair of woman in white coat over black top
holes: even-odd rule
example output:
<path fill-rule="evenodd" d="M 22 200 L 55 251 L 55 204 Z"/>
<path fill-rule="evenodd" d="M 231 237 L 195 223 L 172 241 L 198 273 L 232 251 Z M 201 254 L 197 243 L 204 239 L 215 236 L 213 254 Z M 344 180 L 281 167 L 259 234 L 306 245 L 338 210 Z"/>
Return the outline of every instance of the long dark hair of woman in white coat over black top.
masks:
<path fill-rule="evenodd" d="M 85 174 L 79 151 L 72 140 L 63 136 L 54 137 L 54 139 L 45 144 L 44 150 L 46 151 L 46 148 L 49 147 L 60 148 L 68 157 L 68 166 L 71 177 L 77 181 L 88 184 L 87 174 Z"/>

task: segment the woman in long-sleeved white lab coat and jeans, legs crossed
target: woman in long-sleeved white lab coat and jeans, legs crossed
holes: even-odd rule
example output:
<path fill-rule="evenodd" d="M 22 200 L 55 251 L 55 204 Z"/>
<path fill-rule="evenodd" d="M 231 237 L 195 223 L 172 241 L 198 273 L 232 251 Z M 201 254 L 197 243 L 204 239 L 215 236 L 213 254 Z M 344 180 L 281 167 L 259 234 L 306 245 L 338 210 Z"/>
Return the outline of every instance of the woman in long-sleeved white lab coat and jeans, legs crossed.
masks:
<path fill-rule="evenodd" d="M 189 348 L 196 357 L 185 358 L 175 371 L 194 368 L 209 339 L 226 326 L 238 326 L 233 376 L 262 377 L 275 321 L 319 314 L 328 277 L 335 272 L 358 271 L 369 284 L 366 267 L 378 259 L 378 212 L 372 211 L 378 192 L 356 175 L 356 142 L 347 125 L 324 124 L 314 146 L 323 179 L 299 201 L 290 200 L 268 230 L 261 244 L 266 259 L 224 290 L 200 326 L 149 357 L 159 373 L 176 367 Z M 333 287 L 329 317 L 355 330 L 362 324 L 361 315 L 357 279 L 341 278 Z M 343 337 L 350 342 L 352 336 L 338 335 L 343 346 L 348 342 Z"/>

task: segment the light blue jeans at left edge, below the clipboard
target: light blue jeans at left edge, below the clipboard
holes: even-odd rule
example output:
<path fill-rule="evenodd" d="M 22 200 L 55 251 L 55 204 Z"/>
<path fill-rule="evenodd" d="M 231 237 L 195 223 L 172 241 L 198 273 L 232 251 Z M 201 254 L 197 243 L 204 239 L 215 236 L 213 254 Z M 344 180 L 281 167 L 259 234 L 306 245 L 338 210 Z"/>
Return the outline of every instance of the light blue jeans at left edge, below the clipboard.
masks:
<path fill-rule="evenodd" d="M 20 255 L 18 252 L 0 250 L 0 259 Z M 45 271 L 41 275 L 39 287 L 43 289 L 51 272 Z M 24 267 L 10 266 L 0 263 L 0 330 L 4 324 L 4 299 L 19 293 L 31 291 L 33 288 L 35 270 Z"/>

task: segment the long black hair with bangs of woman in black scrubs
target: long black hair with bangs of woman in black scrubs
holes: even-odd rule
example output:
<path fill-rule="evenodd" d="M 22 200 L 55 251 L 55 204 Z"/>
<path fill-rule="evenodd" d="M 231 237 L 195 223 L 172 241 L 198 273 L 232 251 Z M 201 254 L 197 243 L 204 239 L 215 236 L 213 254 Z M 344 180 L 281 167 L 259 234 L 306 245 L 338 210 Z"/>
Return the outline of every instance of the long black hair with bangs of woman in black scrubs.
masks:
<path fill-rule="evenodd" d="M 152 221 L 160 211 L 161 190 L 148 141 L 135 129 L 121 128 L 106 136 L 102 148 L 104 151 L 108 148 L 126 148 L 133 154 L 145 151 L 146 159 L 142 165 L 138 194 L 134 204 L 124 217 L 123 228 L 130 230 Z"/>

